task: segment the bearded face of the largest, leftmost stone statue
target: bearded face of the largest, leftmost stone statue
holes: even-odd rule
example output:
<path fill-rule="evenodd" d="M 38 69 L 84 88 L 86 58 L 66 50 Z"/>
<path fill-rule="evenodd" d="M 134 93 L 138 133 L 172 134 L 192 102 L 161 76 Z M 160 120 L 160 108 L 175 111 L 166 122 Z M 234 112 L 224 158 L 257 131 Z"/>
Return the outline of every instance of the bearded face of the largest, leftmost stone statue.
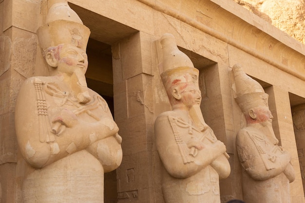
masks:
<path fill-rule="evenodd" d="M 61 73 L 73 74 L 76 71 L 86 73 L 88 57 L 84 50 L 70 44 L 63 44 L 59 49 L 57 70 Z"/>

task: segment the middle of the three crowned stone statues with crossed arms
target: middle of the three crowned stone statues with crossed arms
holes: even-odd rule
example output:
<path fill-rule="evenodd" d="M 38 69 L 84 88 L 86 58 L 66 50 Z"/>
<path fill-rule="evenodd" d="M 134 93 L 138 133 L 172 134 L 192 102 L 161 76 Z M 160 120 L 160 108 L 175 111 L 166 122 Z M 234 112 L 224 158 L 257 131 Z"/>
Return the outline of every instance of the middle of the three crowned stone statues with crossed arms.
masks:
<path fill-rule="evenodd" d="M 172 105 L 172 111 L 161 113 L 154 124 L 156 148 L 164 166 L 164 200 L 220 203 L 219 178 L 229 176 L 229 155 L 203 119 L 199 71 L 178 50 L 171 34 L 160 42 L 165 70 L 161 77 Z"/>

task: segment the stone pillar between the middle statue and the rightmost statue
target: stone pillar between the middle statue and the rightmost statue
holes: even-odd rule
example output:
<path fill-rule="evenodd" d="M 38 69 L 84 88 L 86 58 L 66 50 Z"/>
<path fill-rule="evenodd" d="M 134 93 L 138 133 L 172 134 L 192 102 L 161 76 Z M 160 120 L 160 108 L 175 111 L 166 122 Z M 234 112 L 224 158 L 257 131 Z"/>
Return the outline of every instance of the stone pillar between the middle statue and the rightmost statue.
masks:
<path fill-rule="evenodd" d="M 204 83 L 204 84 L 200 84 Z M 213 129 L 217 139 L 227 147 L 230 176 L 220 180 L 220 199 L 225 203 L 234 199 L 235 187 L 231 182 L 235 172 L 233 167 L 235 135 L 232 121 L 232 105 L 230 99 L 229 69 L 224 64 L 215 64 L 200 70 L 199 86 L 202 93 L 201 110 L 206 123 Z M 235 197 L 237 198 L 237 197 Z"/>

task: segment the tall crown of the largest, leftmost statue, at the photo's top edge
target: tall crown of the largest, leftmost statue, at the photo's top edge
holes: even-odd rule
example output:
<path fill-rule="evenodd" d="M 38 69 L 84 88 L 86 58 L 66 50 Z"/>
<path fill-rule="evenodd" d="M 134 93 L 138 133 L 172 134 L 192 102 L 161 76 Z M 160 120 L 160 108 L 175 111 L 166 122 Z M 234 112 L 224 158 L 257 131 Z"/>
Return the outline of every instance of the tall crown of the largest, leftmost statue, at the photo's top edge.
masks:
<path fill-rule="evenodd" d="M 59 44 L 72 44 L 86 50 L 90 30 L 86 27 L 67 0 L 49 0 L 45 24 L 37 30 L 42 50 Z"/>

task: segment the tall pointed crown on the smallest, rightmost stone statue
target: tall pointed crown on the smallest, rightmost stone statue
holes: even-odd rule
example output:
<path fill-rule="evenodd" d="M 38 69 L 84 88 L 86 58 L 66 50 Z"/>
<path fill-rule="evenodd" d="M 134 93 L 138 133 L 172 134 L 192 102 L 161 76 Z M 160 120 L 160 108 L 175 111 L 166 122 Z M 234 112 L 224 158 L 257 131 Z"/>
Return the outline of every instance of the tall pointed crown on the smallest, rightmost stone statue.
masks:
<path fill-rule="evenodd" d="M 268 94 L 263 87 L 254 79 L 249 77 L 241 65 L 235 64 L 232 68 L 235 83 L 233 84 L 234 97 L 243 112 L 251 108 L 268 107 Z"/>

